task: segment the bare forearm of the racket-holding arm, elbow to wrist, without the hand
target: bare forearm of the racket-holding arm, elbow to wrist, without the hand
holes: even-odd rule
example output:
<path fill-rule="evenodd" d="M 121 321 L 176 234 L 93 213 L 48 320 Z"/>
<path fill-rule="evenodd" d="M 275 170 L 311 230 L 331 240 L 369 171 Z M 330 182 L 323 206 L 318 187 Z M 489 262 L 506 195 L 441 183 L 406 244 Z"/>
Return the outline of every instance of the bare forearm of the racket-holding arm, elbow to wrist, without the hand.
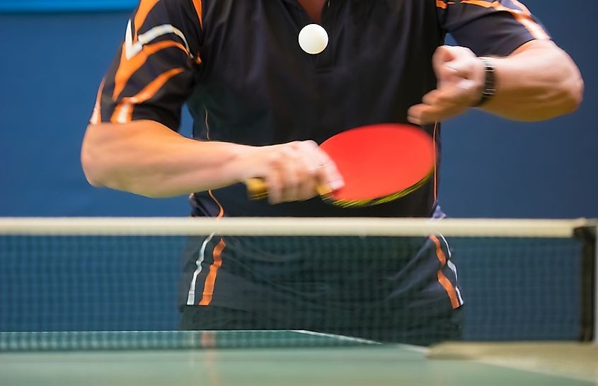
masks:
<path fill-rule="evenodd" d="M 152 121 L 88 127 L 81 163 L 94 186 L 172 197 L 240 180 L 248 146 L 194 141 Z"/>

